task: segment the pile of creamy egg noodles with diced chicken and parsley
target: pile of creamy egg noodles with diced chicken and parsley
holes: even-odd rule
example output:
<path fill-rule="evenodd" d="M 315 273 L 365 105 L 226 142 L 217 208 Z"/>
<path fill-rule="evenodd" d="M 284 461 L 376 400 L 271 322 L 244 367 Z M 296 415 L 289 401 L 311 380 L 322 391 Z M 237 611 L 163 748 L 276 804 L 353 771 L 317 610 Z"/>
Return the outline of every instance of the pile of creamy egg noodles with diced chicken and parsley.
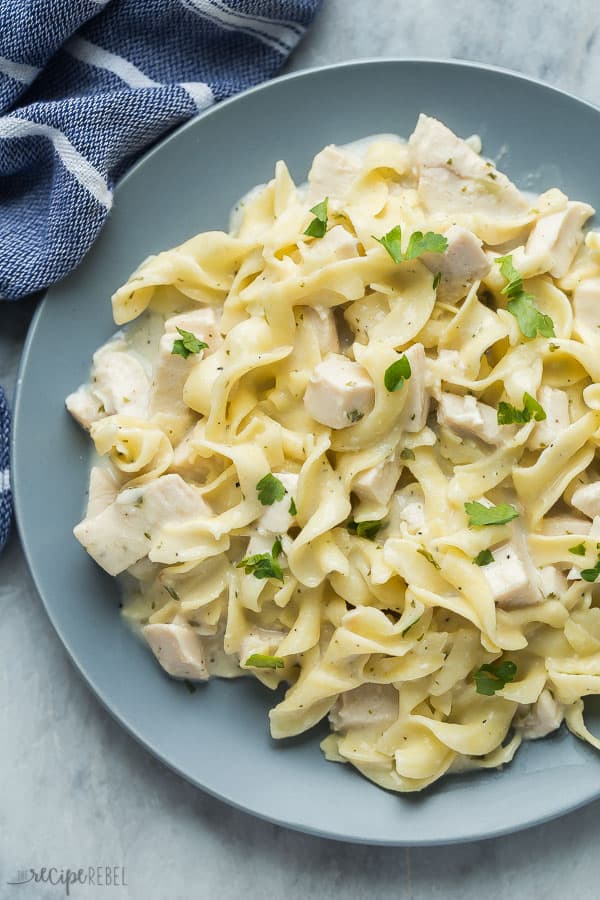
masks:
<path fill-rule="evenodd" d="M 75 535 L 163 668 L 418 791 L 600 693 L 600 235 L 421 116 L 146 259 L 67 400 Z M 193 689 L 193 688 L 192 688 Z"/>

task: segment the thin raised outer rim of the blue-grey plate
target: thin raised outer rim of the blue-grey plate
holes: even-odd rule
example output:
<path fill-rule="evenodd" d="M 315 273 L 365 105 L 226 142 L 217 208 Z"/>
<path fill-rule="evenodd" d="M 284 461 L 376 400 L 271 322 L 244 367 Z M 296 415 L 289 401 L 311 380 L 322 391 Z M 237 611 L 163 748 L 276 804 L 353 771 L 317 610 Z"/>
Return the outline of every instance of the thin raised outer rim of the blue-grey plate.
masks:
<path fill-rule="evenodd" d="M 506 68 L 503 66 L 496 66 L 489 63 L 480 63 L 474 60 L 466 60 L 466 59 L 444 59 L 439 57 L 413 57 L 413 56 L 386 56 L 386 57 L 361 57 L 358 59 L 350 59 L 350 60 L 342 60 L 335 63 L 330 63 L 322 66 L 311 66 L 307 68 L 300 69 L 294 72 L 288 72 L 284 75 L 280 75 L 276 78 L 269 79 L 268 81 L 262 82 L 258 85 L 255 85 L 248 90 L 241 91 L 235 94 L 232 97 L 227 98 L 226 100 L 219 101 L 208 109 L 203 110 L 202 112 L 194 115 L 188 121 L 182 123 L 176 129 L 171 131 L 165 137 L 161 138 L 156 144 L 154 144 L 149 150 L 144 152 L 138 160 L 131 166 L 130 169 L 126 172 L 126 174 L 118 181 L 113 189 L 113 196 L 115 198 L 115 202 L 119 196 L 122 185 L 124 185 L 130 178 L 132 178 L 137 171 L 142 168 L 149 159 L 153 158 L 156 154 L 161 153 L 163 148 L 169 144 L 171 141 L 176 141 L 179 138 L 179 135 L 191 128 L 194 128 L 196 123 L 205 118 L 209 118 L 213 114 L 217 114 L 222 108 L 231 106 L 236 103 L 244 102 L 245 98 L 249 95 L 256 94 L 263 91 L 268 91 L 273 86 L 281 84 L 286 81 L 296 81 L 301 80 L 307 77 L 310 77 L 314 74 L 320 74 L 323 72 L 337 70 L 337 69 L 351 69 L 351 68 L 360 68 L 360 67 L 378 67 L 378 66 L 389 66 L 390 64 L 399 64 L 399 65 L 416 65 L 416 66 L 440 66 L 447 67 L 452 69 L 472 69 L 475 71 L 489 71 L 494 72 L 508 79 L 516 79 L 517 81 L 525 82 L 527 84 L 533 84 L 538 87 L 543 88 L 546 91 L 550 91 L 553 94 L 558 94 L 562 97 L 569 99 L 570 101 L 574 101 L 576 104 L 587 107 L 591 111 L 596 114 L 600 114 L 600 105 L 597 105 L 589 100 L 585 100 L 581 97 L 578 97 L 576 94 L 571 93 L 570 91 L 564 90 L 562 88 L 555 87 L 554 85 L 549 84 L 543 79 L 537 78 L 535 76 L 530 76 L 524 74 L 522 72 L 517 72 L 513 69 Z M 114 205 L 114 204 L 113 204 Z M 94 245 L 90 249 L 89 253 L 81 261 L 87 259 L 89 254 L 94 252 Z M 76 267 L 78 268 L 78 267 Z M 65 280 L 69 278 L 71 273 L 65 276 Z M 89 690 L 92 692 L 94 697 L 100 702 L 101 706 L 110 714 L 113 720 L 115 720 L 118 725 L 123 728 L 131 737 L 133 737 L 144 750 L 150 753 L 155 759 L 158 759 L 163 765 L 167 767 L 172 772 L 175 772 L 178 776 L 183 778 L 188 784 L 193 785 L 195 788 L 198 788 L 209 796 L 216 798 L 217 800 L 226 803 L 228 806 L 233 807 L 236 810 L 239 810 L 247 815 L 254 816 L 258 819 L 261 819 L 266 822 L 270 822 L 275 825 L 279 825 L 284 828 L 289 828 L 293 831 L 297 831 L 304 834 L 311 834 L 317 837 L 326 838 L 328 840 L 337 840 L 343 841 L 344 843 L 352 843 L 352 844 L 365 844 L 369 846 L 388 846 L 388 847 L 434 847 L 434 846 L 448 846 L 452 844 L 463 844 L 470 843 L 472 841 L 480 841 L 480 840 L 492 840 L 497 837 L 502 837 L 505 835 L 516 834 L 520 831 L 524 831 L 528 828 L 533 828 L 537 825 L 542 825 L 546 822 L 552 821 L 554 819 L 558 819 L 564 815 L 572 813 L 577 809 L 586 806 L 589 803 L 594 802 L 600 798 L 600 782 L 595 791 L 586 795 L 583 799 L 575 800 L 572 803 L 567 803 L 561 805 L 559 809 L 552 810 L 549 812 L 545 812 L 542 814 L 533 813 L 528 817 L 524 818 L 518 824 L 508 824 L 506 826 L 501 826 L 495 829 L 490 829 L 485 832 L 485 834 L 478 833 L 476 831 L 476 825 L 471 826 L 471 830 L 467 833 L 461 833 L 454 837 L 447 838 L 419 838 L 416 840 L 405 840 L 399 839 L 397 837 L 390 837 L 389 839 L 379 839 L 373 837 L 358 837 L 355 835 L 348 835 L 345 833 L 340 833 L 339 831 L 335 831 L 332 829 L 322 830 L 318 827 L 312 827 L 302 822 L 296 822 L 293 820 L 291 816 L 287 818 L 277 817 L 268 815 L 262 812 L 259 809 L 254 807 L 250 807 L 245 803 L 237 801 L 234 795 L 228 795 L 221 790 L 217 790 L 213 787 L 210 787 L 200 781 L 198 781 L 191 774 L 184 771 L 181 767 L 179 767 L 176 763 L 172 762 L 167 756 L 165 756 L 151 741 L 150 739 L 144 737 L 144 735 L 133 726 L 127 718 L 122 715 L 114 705 L 111 705 L 111 702 L 108 698 L 104 696 L 103 690 L 96 683 L 96 680 L 92 675 L 89 675 L 85 668 L 85 662 L 79 658 L 79 655 L 71 646 L 70 640 L 64 633 L 63 628 L 56 621 L 55 615 L 52 612 L 51 608 L 49 608 L 48 603 L 46 601 L 46 597 L 44 591 L 42 590 L 41 579 L 39 577 L 39 573 L 36 570 L 35 564 L 35 552 L 33 547 L 29 544 L 28 535 L 25 533 L 25 528 L 21 524 L 22 514 L 23 514 L 23 495 L 21 494 L 21 483 L 23 483 L 23 478 L 17 476 L 17 471 L 19 469 L 19 464 L 17 460 L 19 459 L 19 455 L 17 454 L 17 445 L 19 443 L 19 432 L 20 432 L 20 423 L 21 420 L 25 418 L 26 411 L 23 408 L 21 395 L 22 395 L 22 385 L 26 375 L 26 369 L 28 360 L 30 357 L 30 353 L 32 350 L 32 346 L 35 340 L 36 332 L 39 327 L 40 319 L 42 318 L 44 311 L 46 309 L 46 305 L 48 303 L 48 294 L 49 292 L 55 288 L 57 285 L 60 285 L 60 282 L 57 282 L 54 285 L 51 285 L 41 297 L 38 307 L 32 317 L 32 320 L 29 325 L 29 329 L 27 332 L 27 336 L 25 339 L 25 343 L 23 345 L 23 350 L 21 353 L 21 358 L 19 361 L 19 366 L 17 370 L 17 378 L 15 382 L 14 395 L 13 395 L 13 423 L 11 429 L 10 436 L 10 455 L 11 455 L 11 468 L 10 468 L 10 479 L 11 479 L 11 489 L 12 489 L 12 497 L 13 497 L 13 508 L 14 508 L 14 520 L 16 525 L 16 530 L 19 536 L 21 548 L 23 550 L 23 555 L 25 557 L 25 561 L 27 564 L 27 569 L 29 575 L 33 581 L 35 590 L 38 594 L 38 597 L 42 603 L 42 607 L 50 620 L 50 623 L 62 643 L 70 664 L 75 668 L 78 675 L 84 680 Z M 23 491 L 25 488 L 23 488 Z M 575 738 L 573 737 L 573 740 Z M 376 786 L 374 786 L 374 789 Z M 427 795 L 427 792 L 424 792 Z"/>

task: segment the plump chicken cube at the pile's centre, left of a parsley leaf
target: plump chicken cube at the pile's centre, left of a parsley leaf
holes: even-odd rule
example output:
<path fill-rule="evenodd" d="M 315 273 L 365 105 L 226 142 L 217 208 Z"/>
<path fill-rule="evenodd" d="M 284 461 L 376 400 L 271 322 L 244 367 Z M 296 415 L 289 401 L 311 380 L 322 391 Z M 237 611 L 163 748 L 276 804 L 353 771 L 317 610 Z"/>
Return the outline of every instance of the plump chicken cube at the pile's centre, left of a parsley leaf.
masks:
<path fill-rule="evenodd" d="M 304 394 L 309 416 L 329 428 L 354 425 L 374 403 L 375 389 L 367 371 L 338 353 L 330 353 L 315 367 Z"/>

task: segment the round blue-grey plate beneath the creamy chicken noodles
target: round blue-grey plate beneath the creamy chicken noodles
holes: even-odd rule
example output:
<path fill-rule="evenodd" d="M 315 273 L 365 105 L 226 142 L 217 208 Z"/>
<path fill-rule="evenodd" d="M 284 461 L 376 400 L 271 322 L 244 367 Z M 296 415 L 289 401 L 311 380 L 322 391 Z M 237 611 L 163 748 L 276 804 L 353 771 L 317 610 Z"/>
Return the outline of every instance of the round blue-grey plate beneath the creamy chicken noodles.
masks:
<path fill-rule="evenodd" d="M 71 534 L 89 442 L 63 398 L 114 331 L 108 299 L 143 257 L 226 227 L 234 202 L 268 180 L 276 160 L 303 180 L 325 144 L 408 135 L 420 111 L 461 135 L 480 134 L 485 152 L 500 155 L 521 187 L 558 185 L 600 206 L 590 150 L 600 146 L 599 111 L 543 84 L 421 60 L 351 63 L 271 82 L 181 128 L 123 180 L 93 250 L 49 291 L 32 324 L 13 444 L 17 517 L 35 583 L 75 665 L 121 724 L 228 803 L 292 828 L 380 844 L 465 841 L 557 816 L 600 795 L 600 759 L 561 731 L 522 748 L 502 772 L 450 777 L 421 795 L 398 796 L 325 762 L 320 734 L 272 742 L 274 697 L 258 684 L 215 681 L 189 695 L 121 622 L 115 583 Z"/>

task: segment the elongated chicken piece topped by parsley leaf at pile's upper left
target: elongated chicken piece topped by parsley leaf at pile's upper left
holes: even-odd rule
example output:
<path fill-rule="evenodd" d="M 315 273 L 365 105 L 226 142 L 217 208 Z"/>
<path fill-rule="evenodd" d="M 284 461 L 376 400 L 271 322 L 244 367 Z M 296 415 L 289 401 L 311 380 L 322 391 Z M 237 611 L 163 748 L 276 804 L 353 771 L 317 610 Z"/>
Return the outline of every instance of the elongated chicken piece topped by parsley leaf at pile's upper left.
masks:
<path fill-rule="evenodd" d="M 191 353 L 184 359 L 173 353 L 173 344 L 181 338 L 178 328 L 189 331 L 199 341 L 208 344 L 201 353 Z M 152 385 L 153 412 L 177 412 L 187 407 L 183 403 L 183 386 L 191 369 L 205 355 L 213 353 L 223 343 L 212 307 L 194 309 L 173 316 L 165 322 L 165 330 L 158 345 L 158 361 Z"/>

